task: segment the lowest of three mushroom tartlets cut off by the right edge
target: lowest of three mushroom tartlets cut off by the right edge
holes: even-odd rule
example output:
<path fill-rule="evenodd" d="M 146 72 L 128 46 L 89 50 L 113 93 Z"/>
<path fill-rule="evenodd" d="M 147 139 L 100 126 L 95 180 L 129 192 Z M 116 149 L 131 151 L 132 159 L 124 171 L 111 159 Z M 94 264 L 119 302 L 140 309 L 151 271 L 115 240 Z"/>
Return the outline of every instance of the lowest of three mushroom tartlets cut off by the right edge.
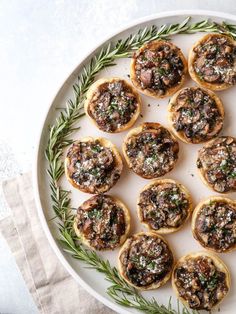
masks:
<path fill-rule="evenodd" d="M 236 202 L 213 196 L 195 208 L 194 238 L 206 249 L 224 253 L 236 248 Z"/>

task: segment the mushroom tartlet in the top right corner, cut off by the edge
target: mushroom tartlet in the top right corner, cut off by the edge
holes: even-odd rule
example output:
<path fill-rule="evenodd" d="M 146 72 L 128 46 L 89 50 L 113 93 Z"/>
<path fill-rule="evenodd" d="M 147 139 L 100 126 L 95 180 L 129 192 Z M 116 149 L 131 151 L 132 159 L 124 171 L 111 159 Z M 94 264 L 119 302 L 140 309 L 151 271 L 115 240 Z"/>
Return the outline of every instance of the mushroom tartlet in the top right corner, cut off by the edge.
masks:
<path fill-rule="evenodd" d="M 222 34 L 207 34 L 189 53 L 189 74 L 199 85 L 223 90 L 236 84 L 236 41 Z"/>

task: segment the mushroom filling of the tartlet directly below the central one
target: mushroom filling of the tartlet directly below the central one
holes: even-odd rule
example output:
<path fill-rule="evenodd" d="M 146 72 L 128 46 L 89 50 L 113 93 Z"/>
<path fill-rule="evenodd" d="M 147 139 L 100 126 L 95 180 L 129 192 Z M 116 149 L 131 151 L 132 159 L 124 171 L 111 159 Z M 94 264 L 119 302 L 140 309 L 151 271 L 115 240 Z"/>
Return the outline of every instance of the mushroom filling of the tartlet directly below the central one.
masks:
<path fill-rule="evenodd" d="M 178 228 L 188 216 L 189 201 L 174 183 L 153 185 L 140 194 L 142 221 L 151 229 Z"/>

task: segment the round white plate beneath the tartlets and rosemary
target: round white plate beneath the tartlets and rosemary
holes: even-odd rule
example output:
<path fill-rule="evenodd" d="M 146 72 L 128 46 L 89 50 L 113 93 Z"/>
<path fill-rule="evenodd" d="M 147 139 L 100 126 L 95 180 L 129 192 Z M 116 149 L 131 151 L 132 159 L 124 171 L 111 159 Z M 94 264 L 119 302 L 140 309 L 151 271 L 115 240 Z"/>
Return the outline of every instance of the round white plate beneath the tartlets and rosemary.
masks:
<path fill-rule="evenodd" d="M 73 73 L 66 79 L 66 81 L 58 91 L 56 97 L 54 98 L 53 102 L 51 103 L 40 132 L 40 139 L 36 157 L 36 169 L 34 175 L 34 187 L 38 213 L 47 238 L 64 267 L 75 278 L 78 284 L 83 286 L 98 300 L 119 313 L 136 313 L 137 311 L 124 308 L 114 303 L 112 299 L 109 298 L 106 294 L 106 288 L 109 286 L 109 283 L 105 281 L 104 276 L 99 274 L 95 270 L 85 268 L 85 265 L 82 262 L 73 259 L 69 254 L 63 252 L 62 247 L 56 241 L 58 237 L 58 230 L 55 223 L 53 221 L 50 221 L 50 218 L 54 216 L 54 213 L 52 211 L 50 189 L 48 184 L 48 177 L 46 174 L 46 168 L 48 167 L 48 165 L 44 156 L 44 151 L 49 136 L 48 125 L 52 125 L 55 121 L 55 118 L 58 116 L 58 110 L 56 108 L 65 107 L 66 101 L 70 98 L 73 98 L 72 85 L 74 82 L 76 82 L 76 78 L 79 75 L 82 67 L 86 65 L 90 58 L 103 46 L 106 46 L 110 41 L 116 41 L 120 38 L 126 38 L 131 33 L 136 33 L 140 28 L 151 26 L 153 24 L 160 26 L 162 24 L 182 22 L 187 16 L 192 17 L 191 22 L 198 22 L 203 19 L 209 18 L 216 22 L 227 21 L 232 24 L 236 24 L 236 17 L 233 15 L 207 11 L 166 12 L 136 21 L 125 30 L 122 30 L 120 33 L 101 43 L 96 49 L 89 53 L 83 61 L 79 63 Z M 172 40 L 183 50 L 185 56 L 187 56 L 189 48 L 201 36 L 203 36 L 202 33 L 195 35 L 176 35 L 172 37 Z M 116 66 L 102 71 L 98 75 L 98 78 L 120 76 L 128 80 L 129 63 L 130 59 L 121 59 L 117 61 Z M 194 85 L 194 82 L 189 79 L 185 83 L 185 86 L 186 85 Z M 225 124 L 222 134 L 236 136 L 236 125 L 234 124 L 234 117 L 236 117 L 234 96 L 236 95 L 236 90 L 235 88 L 231 88 L 218 94 L 223 100 L 226 112 Z M 169 99 L 166 98 L 163 100 L 154 100 L 150 97 L 143 95 L 141 97 L 143 100 L 143 117 L 140 117 L 135 125 L 138 125 L 139 123 L 144 121 L 153 121 L 160 122 L 164 126 L 168 126 L 167 104 Z M 148 106 L 148 104 L 150 104 L 150 106 Z M 120 134 L 114 135 L 103 133 L 101 131 L 98 131 L 95 126 L 92 125 L 90 121 L 88 121 L 86 117 L 80 120 L 79 124 L 81 126 L 81 129 L 78 131 L 78 133 L 74 134 L 74 139 L 88 135 L 103 136 L 110 139 L 121 150 L 122 140 L 127 132 L 122 132 Z M 165 177 L 177 179 L 178 181 L 183 183 L 190 190 L 194 204 L 197 204 L 201 199 L 214 194 L 211 190 L 204 186 L 197 174 L 196 157 L 197 151 L 201 147 L 201 145 L 183 144 L 180 141 L 179 144 L 179 161 L 175 169 L 167 174 Z M 71 197 L 73 207 L 78 207 L 84 200 L 90 197 L 89 194 L 79 192 L 78 190 L 71 187 L 65 179 L 63 179 L 62 181 L 62 185 L 72 192 Z M 148 182 L 148 180 L 142 179 L 132 173 L 125 165 L 125 169 L 123 171 L 121 179 L 109 192 L 109 194 L 111 195 L 118 196 L 130 208 L 133 225 L 132 233 L 141 230 L 145 231 L 145 228 L 141 226 L 137 218 L 136 200 L 139 191 Z M 228 196 L 235 197 L 235 193 L 229 194 Z M 188 222 L 183 229 L 181 229 L 177 233 L 166 236 L 166 238 L 171 246 L 174 248 L 174 254 L 176 258 L 179 258 L 190 251 L 202 250 L 200 245 L 193 239 L 190 230 L 190 222 Z M 105 259 L 109 259 L 112 265 L 117 265 L 117 253 L 118 250 L 99 254 L 101 254 Z M 236 272 L 234 271 L 236 252 L 221 254 L 220 257 L 229 266 L 232 275 L 232 289 L 226 300 L 222 303 L 221 311 L 225 314 L 234 313 L 236 306 L 236 301 L 234 297 L 236 293 Z M 168 304 L 169 296 L 172 296 L 172 304 L 176 306 L 175 296 L 173 294 L 170 282 L 158 290 L 145 292 L 145 296 L 154 296 L 160 304 L 166 305 Z"/>

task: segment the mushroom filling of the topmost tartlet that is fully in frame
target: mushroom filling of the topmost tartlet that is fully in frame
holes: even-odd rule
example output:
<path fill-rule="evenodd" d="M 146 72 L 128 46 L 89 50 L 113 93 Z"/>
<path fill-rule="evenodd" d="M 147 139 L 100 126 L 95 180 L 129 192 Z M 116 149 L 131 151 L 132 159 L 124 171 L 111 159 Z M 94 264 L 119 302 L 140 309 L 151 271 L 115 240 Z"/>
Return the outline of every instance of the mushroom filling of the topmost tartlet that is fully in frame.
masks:
<path fill-rule="evenodd" d="M 143 89 L 164 95 L 181 82 L 184 64 L 179 49 L 168 43 L 145 49 L 134 56 L 136 79 Z"/>

